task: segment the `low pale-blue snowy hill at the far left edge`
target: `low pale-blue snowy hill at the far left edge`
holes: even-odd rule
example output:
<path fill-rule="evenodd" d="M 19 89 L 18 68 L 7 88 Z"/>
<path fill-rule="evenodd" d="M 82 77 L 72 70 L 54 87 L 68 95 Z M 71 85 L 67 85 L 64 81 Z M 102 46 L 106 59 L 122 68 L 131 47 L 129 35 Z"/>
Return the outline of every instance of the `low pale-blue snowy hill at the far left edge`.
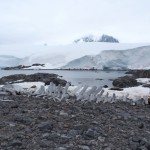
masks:
<path fill-rule="evenodd" d="M 19 65 L 21 59 L 10 56 L 10 55 L 0 55 L 0 67 L 10 67 Z"/>

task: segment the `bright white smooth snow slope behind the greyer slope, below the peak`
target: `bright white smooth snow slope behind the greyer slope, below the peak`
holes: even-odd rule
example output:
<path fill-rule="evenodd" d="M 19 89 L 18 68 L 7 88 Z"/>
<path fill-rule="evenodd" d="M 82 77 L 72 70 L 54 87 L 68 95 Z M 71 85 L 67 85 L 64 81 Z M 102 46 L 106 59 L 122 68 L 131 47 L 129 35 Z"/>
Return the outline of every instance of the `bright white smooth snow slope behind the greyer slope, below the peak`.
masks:
<path fill-rule="evenodd" d="M 125 50 L 143 46 L 145 44 L 124 44 L 124 43 L 105 43 L 105 42 L 89 42 L 78 43 L 63 46 L 47 46 L 46 51 L 37 50 L 37 53 L 25 57 L 22 65 L 32 65 L 34 63 L 45 64 L 40 69 L 60 68 L 68 62 L 80 58 L 85 55 L 96 55 L 102 50 Z M 34 69 L 33 67 L 30 69 Z M 36 68 L 38 69 L 38 68 Z"/>

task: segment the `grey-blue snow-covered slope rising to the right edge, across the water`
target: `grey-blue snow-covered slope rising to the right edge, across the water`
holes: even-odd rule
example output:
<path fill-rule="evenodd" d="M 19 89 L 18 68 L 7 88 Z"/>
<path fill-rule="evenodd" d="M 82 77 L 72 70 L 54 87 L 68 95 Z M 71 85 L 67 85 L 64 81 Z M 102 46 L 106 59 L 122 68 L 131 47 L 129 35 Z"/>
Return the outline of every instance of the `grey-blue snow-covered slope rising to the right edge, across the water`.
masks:
<path fill-rule="evenodd" d="M 150 46 L 128 50 L 107 50 L 69 62 L 62 68 L 150 69 Z"/>

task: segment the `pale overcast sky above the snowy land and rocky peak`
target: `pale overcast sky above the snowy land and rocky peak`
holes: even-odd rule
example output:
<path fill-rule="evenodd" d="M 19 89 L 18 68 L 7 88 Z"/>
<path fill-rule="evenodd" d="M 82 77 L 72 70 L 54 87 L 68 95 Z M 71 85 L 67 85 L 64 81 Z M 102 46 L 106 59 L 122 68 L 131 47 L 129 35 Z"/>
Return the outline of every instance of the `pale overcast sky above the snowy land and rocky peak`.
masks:
<path fill-rule="evenodd" d="M 0 52 L 68 44 L 88 34 L 150 43 L 150 0 L 0 0 Z"/>

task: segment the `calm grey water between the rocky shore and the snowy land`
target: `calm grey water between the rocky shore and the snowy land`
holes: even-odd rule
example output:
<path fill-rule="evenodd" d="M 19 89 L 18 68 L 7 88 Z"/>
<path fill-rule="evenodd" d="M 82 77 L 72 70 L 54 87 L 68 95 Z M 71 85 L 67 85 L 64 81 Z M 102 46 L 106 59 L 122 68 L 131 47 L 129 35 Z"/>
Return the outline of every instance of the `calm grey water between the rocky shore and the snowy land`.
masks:
<path fill-rule="evenodd" d="M 67 71 L 67 70 L 0 70 L 0 78 L 12 74 L 55 73 L 72 85 L 112 87 L 112 79 L 125 75 L 125 71 Z M 102 79 L 102 80 L 100 80 Z"/>

